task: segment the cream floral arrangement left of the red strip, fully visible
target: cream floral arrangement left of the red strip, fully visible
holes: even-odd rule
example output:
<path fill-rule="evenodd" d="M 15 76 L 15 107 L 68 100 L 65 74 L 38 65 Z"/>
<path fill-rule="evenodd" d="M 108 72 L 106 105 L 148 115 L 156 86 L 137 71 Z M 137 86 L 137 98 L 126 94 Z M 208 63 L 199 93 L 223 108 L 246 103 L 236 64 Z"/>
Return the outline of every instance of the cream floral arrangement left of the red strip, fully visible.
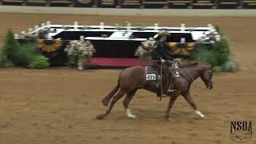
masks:
<path fill-rule="evenodd" d="M 65 51 L 69 58 L 70 66 L 78 66 L 78 70 L 83 70 L 86 58 L 91 58 L 96 52 L 94 45 L 90 41 L 75 40 L 67 45 Z"/>

